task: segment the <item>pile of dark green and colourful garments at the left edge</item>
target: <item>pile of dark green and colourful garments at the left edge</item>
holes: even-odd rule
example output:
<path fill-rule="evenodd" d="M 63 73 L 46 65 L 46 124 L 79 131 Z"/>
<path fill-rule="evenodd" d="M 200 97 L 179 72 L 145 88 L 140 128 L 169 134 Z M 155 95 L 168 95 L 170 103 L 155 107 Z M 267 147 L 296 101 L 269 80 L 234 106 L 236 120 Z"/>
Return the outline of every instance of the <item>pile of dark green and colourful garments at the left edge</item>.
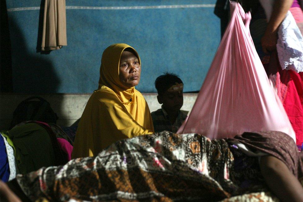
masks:
<path fill-rule="evenodd" d="M 26 174 L 41 167 L 63 165 L 70 160 L 73 142 L 55 125 L 22 122 L 1 131 L 1 180 Z"/>

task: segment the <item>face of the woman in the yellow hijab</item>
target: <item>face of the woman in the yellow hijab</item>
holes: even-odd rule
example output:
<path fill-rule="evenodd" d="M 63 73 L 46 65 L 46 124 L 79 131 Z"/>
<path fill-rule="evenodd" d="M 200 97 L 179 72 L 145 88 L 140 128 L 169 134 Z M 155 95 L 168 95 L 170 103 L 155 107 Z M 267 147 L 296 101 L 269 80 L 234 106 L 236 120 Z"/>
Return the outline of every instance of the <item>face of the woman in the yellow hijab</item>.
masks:
<path fill-rule="evenodd" d="M 141 65 L 138 58 L 129 51 L 123 51 L 120 64 L 119 76 L 120 81 L 125 87 L 133 87 L 139 84 L 141 75 Z"/>

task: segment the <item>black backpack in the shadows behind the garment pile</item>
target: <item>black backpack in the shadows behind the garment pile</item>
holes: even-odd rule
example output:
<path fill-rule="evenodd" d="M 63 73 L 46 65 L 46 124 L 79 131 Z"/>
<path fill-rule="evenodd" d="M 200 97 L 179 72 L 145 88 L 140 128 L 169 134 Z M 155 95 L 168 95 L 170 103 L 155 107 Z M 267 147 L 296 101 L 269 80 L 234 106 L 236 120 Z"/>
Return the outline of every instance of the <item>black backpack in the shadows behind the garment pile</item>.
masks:
<path fill-rule="evenodd" d="M 25 121 L 57 122 L 57 114 L 45 99 L 34 96 L 23 100 L 15 109 L 10 129 Z"/>

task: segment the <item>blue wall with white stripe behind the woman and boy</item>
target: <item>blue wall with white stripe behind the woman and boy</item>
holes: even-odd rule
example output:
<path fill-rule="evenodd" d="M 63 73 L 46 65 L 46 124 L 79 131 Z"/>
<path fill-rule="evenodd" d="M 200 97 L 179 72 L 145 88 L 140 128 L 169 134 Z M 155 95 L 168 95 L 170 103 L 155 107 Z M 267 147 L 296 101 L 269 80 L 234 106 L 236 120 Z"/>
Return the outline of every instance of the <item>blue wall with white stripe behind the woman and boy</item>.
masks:
<path fill-rule="evenodd" d="M 66 0 L 66 6 L 215 4 L 215 0 Z M 40 7 L 41 0 L 7 0 L 7 8 Z M 39 10 L 8 11 L 16 93 L 92 93 L 103 50 L 114 43 L 137 49 L 142 76 L 137 89 L 156 92 L 164 71 L 178 74 L 184 91 L 199 90 L 220 42 L 214 7 L 66 10 L 67 46 L 36 53 Z M 40 44 L 39 44 L 40 45 Z"/>

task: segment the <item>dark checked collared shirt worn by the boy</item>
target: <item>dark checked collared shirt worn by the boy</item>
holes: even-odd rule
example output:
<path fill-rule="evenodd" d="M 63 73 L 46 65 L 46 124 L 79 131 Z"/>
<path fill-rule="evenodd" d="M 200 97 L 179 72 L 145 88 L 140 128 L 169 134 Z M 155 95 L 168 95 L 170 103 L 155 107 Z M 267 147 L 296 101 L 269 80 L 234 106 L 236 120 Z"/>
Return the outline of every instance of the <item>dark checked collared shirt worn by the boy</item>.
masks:
<path fill-rule="evenodd" d="M 151 114 L 155 132 L 171 131 L 175 133 L 178 131 L 179 127 L 182 125 L 182 123 L 187 117 L 186 114 L 179 110 L 178 117 L 174 124 L 172 124 L 169 120 L 167 112 L 165 112 L 165 109 L 163 108 L 163 105 L 161 106 L 161 109 L 158 109 L 157 111 L 154 111 Z"/>

